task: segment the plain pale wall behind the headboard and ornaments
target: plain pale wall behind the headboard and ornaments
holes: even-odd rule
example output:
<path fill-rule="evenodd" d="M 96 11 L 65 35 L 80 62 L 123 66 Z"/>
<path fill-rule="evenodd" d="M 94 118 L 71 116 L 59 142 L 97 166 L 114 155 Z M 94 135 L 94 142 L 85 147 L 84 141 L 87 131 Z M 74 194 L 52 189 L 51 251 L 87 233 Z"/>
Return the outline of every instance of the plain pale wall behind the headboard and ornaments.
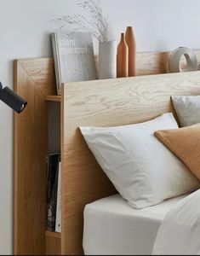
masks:
<path fill-rule="evenodd" d="M 0 80 L 13 88 L 13 60 L 52 55 L 49 20 L 77 13 L 74 0 L 0 0 Z M 138 51 L 200 49 L 198 0 L 101 0 L 118 40 L 134 26 Z M 13 112 L 0 102 L 0 254 L 13 252 Z M 25 156 L 26 157 L 26 156 Z"/>

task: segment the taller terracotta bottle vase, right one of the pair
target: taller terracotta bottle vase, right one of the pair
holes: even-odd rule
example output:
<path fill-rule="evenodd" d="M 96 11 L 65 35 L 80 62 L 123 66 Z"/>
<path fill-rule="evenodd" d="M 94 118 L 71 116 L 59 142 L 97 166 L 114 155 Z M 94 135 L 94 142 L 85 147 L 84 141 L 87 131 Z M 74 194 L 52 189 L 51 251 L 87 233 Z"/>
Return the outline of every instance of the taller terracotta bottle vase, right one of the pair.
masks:
<path fill-rule="evenodd" d="M 136 43 L 132 26 L 127 26 L 125 40 L 129 47 L 129 77 L 134 77 L 136 75 Z"/>

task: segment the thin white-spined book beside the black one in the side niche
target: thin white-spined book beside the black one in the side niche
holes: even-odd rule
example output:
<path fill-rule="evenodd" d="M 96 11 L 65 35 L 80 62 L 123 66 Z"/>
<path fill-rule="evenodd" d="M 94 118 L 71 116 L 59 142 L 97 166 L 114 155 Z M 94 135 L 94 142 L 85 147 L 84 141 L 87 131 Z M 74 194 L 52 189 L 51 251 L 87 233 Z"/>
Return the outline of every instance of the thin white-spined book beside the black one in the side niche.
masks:
<path fill-rule="evenodd" d="M 55 232 L 61 232 L 61 162 L 59 162 Z"/>

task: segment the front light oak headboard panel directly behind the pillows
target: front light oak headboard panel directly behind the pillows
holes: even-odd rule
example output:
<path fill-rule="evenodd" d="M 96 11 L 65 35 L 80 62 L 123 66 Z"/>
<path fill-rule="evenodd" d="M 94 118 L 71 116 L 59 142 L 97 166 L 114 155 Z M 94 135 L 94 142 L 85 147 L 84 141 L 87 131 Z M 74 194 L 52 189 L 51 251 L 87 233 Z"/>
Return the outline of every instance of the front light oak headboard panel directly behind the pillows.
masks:
<path fill-rule="evenodd" d="M 83 208 L 116 193 L 79 126 L 129 125 L 174 112 L 172 95 L 199 95 L 200 72 L 65 84 L 62 88 L 61 253 L 83 253 Z"/>

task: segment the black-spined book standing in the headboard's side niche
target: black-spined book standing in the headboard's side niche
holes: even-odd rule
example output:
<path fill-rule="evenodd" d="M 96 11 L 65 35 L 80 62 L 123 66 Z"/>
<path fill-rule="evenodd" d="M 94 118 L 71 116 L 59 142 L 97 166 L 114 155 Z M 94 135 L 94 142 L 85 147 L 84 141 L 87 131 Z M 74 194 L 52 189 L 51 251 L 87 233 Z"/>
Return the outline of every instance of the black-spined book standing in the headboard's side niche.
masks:
<path fill-rule="evenodd" d="M 55 230 L 60 153 L 48 154 L 47 166 L 47 230 Z"/>

